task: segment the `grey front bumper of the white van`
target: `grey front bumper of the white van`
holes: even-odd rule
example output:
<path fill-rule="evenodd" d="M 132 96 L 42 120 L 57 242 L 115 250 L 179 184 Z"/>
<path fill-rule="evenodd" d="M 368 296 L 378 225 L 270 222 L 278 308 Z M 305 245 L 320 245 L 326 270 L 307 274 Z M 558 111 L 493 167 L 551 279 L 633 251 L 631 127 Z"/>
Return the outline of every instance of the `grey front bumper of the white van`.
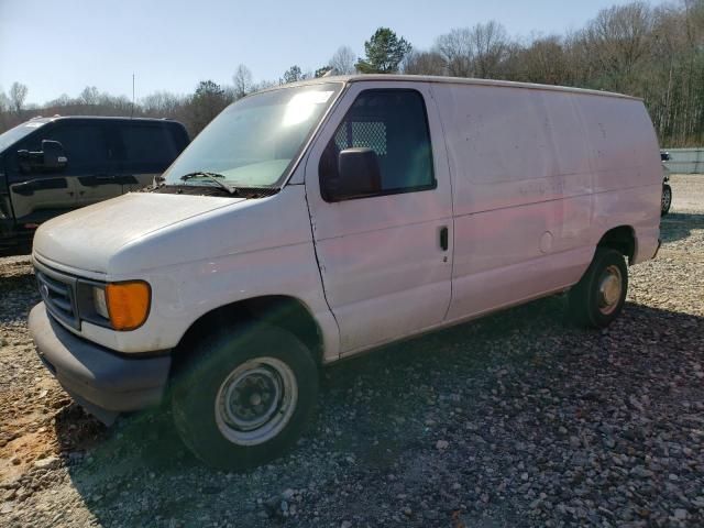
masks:
<path fill-rule="evenodd" d="M 130 358 L 80 339 L 48 316 L 44 302 L 32 309 L 29 326 L 44 365 L 103 424 L 162 402 L 170 355 Z"/>

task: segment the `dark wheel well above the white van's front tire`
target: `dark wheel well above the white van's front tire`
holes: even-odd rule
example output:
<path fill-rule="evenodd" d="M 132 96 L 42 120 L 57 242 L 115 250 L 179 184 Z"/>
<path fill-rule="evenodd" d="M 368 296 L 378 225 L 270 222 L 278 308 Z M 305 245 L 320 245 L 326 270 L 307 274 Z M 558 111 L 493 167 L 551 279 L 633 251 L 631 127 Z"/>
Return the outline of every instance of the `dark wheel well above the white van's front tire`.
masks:
<path fill-rule="evenodd" d="M 322 337 L 308 308 L 294 297 L 273 295 L 232 302 L 201 316 L 174 349 L 174 369 L 189 355 L 198 341 L 246 321 L 263 321 L 289 331 L 308 348 L 316 363 L 322 362 Z"/>

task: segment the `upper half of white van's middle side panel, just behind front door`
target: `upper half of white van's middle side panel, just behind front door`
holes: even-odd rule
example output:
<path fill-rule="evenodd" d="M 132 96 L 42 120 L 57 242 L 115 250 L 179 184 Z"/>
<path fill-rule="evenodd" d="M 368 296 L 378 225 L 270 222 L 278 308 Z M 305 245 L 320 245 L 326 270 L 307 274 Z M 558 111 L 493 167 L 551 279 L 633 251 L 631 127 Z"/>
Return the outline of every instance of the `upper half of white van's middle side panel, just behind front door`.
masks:
<path fill-rule="evenodd" d="M 433 89 L 448 128 L 455 215 L 588 193 L 590 152 L 573 95 L 492 86 Z"/>

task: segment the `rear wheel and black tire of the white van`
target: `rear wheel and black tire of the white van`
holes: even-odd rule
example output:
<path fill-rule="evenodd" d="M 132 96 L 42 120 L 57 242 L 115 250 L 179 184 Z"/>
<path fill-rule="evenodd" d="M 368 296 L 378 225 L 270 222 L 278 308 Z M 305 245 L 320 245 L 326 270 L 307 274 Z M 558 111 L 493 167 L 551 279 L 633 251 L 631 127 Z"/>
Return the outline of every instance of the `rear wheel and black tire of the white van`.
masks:
<path fill-rule="evenodd" d="M 616 250 L 597 248 L 586 273 L 570 289 L 571 319 L 581 327 L 607 327 L 624 308 L 627 293 L 628 267 L 624 255 Z"/>

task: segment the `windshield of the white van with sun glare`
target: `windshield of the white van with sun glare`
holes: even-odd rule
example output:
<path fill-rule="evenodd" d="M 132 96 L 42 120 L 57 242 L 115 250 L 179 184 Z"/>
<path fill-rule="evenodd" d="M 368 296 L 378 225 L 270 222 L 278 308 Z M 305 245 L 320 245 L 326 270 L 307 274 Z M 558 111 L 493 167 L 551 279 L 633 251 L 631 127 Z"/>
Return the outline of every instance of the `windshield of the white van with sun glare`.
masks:
<path fill-rule="evenodd" d="M 212 185 L 207 178 L 180 179 L 193 173 L 217 173 L 239 188 L 277 185 L 341 87 L 282 88 L 230 105 L 164 174 L 166 185 Z"/>

